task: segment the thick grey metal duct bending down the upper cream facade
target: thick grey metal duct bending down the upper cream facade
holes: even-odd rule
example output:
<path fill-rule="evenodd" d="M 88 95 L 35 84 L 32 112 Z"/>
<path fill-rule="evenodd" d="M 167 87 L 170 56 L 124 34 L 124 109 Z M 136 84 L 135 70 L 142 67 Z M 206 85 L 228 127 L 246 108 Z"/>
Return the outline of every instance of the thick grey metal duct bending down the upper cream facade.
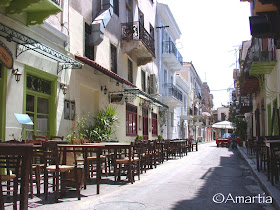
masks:
<path fill-rule="evenodd" d="M 101 11 L 91 24 L 89 44 L 99 45 L 104 39 L 104 30 L 113 15 L 113 0 L 103 0 Z"/>

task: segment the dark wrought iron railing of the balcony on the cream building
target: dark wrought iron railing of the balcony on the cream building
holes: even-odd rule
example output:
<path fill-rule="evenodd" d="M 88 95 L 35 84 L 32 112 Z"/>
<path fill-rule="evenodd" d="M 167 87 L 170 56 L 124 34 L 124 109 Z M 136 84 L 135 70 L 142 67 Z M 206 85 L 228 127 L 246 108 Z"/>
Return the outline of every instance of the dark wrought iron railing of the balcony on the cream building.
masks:
<path fill-rule="evenodd" d="M 122 23 L 122 40 L 142 41 L 150 52 L 155 55 L 155 40 L 139 21 Z"/>

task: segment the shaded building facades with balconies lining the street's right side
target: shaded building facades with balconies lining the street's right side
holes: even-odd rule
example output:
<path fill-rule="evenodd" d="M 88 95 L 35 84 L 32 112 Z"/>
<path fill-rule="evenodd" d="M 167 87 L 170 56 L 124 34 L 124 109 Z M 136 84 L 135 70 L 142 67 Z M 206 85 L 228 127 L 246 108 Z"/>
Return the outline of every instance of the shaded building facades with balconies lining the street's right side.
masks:
<path fill-rule="evenodd" d="M 235 77 L 237 114 L 247 121 L 247 138 L 279 134 L 279 3 L 251 4 L 252 39 L 240 48 Z"/>

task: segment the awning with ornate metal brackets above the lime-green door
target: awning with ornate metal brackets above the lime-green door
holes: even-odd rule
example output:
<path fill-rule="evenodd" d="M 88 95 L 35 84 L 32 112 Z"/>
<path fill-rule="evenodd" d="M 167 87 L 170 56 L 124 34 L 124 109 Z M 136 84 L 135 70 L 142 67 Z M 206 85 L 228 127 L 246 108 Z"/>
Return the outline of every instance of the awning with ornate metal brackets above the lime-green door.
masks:
<path fill-rule="evenodd" d="M 82 68 L 82 64 L 76 61 L 75 59 L 67 55 L 64 55 L 63 53 L 58 52 L 55 49 L 47 45 L 44 45 L 36 41 L 35 39 L 32 39 L 29 36 L 26 36 L 21 32 L 18 32 L 2 23 L 0 23 L 0 36 L 6 38 L 7 41 L 9 42 L 14 41 L 15 43 L 18 44 L 16 57 L 18 57 L 21 53 L 27 50 L 33 50 L 37 53 L 40 53 L 44 56 L 47 56 L 61 63 L 62 65 L 59 65 L 57 70 L 58 73 L 66 68 L 72 68 L 72 69 Z"/>

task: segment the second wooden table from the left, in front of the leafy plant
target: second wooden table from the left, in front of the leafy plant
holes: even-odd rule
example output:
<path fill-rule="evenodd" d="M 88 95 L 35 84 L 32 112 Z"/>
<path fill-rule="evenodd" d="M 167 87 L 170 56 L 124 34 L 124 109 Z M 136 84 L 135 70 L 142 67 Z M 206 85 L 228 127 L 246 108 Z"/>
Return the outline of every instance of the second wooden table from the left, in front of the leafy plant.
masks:
<path fill-rule="evenodd" d="M 84 156 L 84 189 L 86 189 L 86 181 L 88 178 L 88 151 L 89 149 L 96 149 L 96 158 L 97 158 L 97 167 L 96 167 L 96 191 L 97 194 L 100 192 L 100 180 L 101 180 L 101 161 L 100 161 L 100 155 L 102 153 L 102 148 L 104 148 L 103 145 L 100 144 L 58 144 L 59 148 L 63 151 L 63 162 L 66 163 L 66 152 L 81 152 Z"/>

